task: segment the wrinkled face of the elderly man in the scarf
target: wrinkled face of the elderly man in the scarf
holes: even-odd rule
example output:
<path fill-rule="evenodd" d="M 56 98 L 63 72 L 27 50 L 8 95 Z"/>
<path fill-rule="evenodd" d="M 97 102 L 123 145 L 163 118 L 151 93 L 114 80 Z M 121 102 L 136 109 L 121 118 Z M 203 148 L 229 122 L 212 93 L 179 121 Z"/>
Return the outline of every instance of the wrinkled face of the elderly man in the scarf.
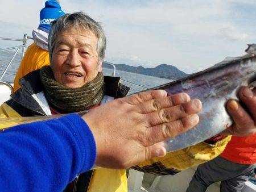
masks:
<path fill-rule="evenodd" d="M 67 87 L 81 87 L 102 70 L 97 66 L 97 37 L 89 30 L 69 28 L 57 36 L 52 53 L 55 80 Z"/>

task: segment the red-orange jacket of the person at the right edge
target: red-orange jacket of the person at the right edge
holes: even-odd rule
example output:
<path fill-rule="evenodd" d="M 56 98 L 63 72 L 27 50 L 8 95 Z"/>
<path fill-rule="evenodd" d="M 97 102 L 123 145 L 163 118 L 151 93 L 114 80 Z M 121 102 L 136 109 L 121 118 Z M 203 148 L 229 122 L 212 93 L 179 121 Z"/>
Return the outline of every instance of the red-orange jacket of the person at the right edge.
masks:
<path fill-rule="evenodd" d="M 256 133 L 250 136 L 232 136 L 221 157 L 238 164 L 256 164 Z"/>

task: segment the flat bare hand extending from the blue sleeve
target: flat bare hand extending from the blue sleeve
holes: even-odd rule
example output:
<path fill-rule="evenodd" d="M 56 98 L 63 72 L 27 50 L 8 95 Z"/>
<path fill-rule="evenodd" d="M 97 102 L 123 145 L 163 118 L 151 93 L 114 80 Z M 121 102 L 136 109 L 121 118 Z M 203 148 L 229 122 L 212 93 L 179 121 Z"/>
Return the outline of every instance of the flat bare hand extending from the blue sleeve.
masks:
<path fill-rule="evenodd" d="M 196 126 L 200 110 L 188 94 L 154 90 L 115 99 L 82 118 L 96 141 L 96 165 L 124 169 L 166 155 L 162 141 Z"/>

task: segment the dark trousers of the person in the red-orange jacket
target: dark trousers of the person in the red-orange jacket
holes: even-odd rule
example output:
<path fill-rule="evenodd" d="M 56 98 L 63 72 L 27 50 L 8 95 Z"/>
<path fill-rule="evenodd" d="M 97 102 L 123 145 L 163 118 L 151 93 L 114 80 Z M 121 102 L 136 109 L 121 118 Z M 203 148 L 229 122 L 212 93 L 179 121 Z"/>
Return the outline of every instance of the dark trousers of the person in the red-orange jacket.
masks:
<path fill-rule="evenodd" d="M 198 166 L 187 192 L 203 192 L 212 183 L 221 181 L 221 192 L 239 192 L 248 177 L 254 175 L 256 164 L 237 164 L 220 156 Z"/>

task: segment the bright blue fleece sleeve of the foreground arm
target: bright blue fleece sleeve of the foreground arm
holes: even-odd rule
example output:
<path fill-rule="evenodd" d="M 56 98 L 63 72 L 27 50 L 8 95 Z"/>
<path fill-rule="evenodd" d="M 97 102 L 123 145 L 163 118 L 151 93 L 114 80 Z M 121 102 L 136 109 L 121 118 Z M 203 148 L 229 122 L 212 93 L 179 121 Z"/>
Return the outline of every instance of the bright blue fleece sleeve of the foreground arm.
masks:
<path fill-rule="evenodd" d="M 95 159 L 92 132 L 79 115 L 9 128 L 0 133 L 0 191 L 63 191 Z"/>

